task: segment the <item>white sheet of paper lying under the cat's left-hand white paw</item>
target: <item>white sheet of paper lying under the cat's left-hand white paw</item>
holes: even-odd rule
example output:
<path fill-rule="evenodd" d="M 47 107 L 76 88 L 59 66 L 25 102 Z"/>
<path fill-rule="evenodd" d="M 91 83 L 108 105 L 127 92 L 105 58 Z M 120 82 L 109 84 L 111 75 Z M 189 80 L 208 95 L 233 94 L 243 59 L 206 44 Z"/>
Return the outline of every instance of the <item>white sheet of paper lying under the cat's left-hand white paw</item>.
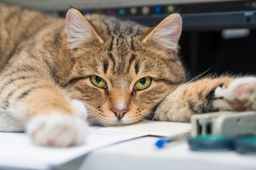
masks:
<path fill-rule="evenodd" d="M 143 135 L 90 127 L 86 143 L 82 146 L 46 148 L 35 146 L 25 133 L 0 133 L 0 169 L 51 169 L 93 150 Z"/>

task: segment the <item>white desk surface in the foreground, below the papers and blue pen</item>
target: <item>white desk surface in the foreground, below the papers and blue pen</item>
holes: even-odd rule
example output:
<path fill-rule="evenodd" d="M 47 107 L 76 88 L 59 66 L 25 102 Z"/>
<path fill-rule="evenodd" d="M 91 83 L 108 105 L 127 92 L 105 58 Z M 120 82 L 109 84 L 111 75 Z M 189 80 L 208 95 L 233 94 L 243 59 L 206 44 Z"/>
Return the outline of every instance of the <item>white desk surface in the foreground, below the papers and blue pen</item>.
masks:
<path fill-rule="evenodd" d="M 104 148 L 58 169 L 80 170 L 238 170 L 256 169 L 256 155 L 227 152 L 193 152 L 186 141 L 167 148 L 154 147 L 156 137 L 141 137 Z"/>

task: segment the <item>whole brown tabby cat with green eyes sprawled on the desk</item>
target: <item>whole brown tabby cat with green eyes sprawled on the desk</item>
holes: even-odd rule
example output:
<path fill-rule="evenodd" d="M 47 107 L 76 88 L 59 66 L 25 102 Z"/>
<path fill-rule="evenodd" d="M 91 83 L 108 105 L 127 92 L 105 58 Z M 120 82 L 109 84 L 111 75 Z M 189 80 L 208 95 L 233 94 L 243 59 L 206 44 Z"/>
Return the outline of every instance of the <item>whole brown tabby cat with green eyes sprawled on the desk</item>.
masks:
<path fill-rule="evenodd" d="M 256 109 L 253 76 L 186 82 L 180 14 L 154 28 L 75 9 L 65 20 L 0 4 L 0 15 L 0 131 L 27 131 L 35 144 L 79 145 L 87 122 L 189 122 Z"/>

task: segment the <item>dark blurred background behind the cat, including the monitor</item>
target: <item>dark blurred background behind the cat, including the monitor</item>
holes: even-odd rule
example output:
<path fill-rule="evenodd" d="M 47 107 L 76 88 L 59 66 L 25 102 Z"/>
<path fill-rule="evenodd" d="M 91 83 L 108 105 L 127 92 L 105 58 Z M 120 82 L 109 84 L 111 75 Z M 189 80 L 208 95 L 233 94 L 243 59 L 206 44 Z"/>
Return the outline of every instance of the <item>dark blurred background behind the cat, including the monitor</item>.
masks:
<path fill-rule="evenodd" d="M 256 74 L 256 1 L 0 0 L 65 17 L 70 7 L 154 27 L 178 12 L 184 20 L 180 58 L 188 79 L 223 73 Z"/>

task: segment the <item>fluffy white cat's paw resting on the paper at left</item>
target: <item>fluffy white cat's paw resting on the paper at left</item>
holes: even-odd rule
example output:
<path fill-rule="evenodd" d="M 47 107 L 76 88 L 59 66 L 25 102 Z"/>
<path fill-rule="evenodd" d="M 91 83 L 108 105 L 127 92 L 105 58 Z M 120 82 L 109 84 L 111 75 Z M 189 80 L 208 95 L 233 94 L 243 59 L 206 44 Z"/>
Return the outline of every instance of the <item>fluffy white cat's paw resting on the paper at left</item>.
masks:
<path fill-rule="evenodd" d="M 85 140 L 87 123 L 78 116 L 55 112 L 32 118 L 27 133 L 40 146 L 76 146 Z"/>

